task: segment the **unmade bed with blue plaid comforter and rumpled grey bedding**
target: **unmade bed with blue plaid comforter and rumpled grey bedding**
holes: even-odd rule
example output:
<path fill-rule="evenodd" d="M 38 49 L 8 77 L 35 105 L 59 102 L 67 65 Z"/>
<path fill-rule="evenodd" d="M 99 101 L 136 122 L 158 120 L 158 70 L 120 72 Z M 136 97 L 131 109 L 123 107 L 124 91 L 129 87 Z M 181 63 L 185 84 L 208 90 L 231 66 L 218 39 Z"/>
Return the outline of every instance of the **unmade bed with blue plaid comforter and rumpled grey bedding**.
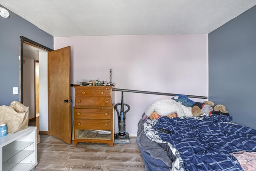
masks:
<path fill-rule="evenodd" d="M 183 106 L 172 100 L 167 100 L 171 101 L 168 107 Z M 164 101 L 157 102 L 158 107 L 150 105 L 146 111 L 162 107 L 168 113 Z M 142 115 L 136 142 L 147 171 L 256 170 L 256 130 L 232 123 L 229 115 L 202 113 L 194 117 L 189 112 L 191 107 L 186 107 L 182 115 L 173 118 L 162 115 L 149 119 Z"/>

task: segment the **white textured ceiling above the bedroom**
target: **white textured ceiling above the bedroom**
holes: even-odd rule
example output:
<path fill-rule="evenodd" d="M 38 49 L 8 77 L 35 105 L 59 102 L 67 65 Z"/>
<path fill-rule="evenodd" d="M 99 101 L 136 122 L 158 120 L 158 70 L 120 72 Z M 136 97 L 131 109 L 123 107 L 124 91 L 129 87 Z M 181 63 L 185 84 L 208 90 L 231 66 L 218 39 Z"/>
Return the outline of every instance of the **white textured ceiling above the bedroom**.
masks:
<path fill-rule="evenodd" d="M 208 34 L 256 5 L 256 0 L 1 0 L 0 4 L 54 37 L 68 37 Z"/>

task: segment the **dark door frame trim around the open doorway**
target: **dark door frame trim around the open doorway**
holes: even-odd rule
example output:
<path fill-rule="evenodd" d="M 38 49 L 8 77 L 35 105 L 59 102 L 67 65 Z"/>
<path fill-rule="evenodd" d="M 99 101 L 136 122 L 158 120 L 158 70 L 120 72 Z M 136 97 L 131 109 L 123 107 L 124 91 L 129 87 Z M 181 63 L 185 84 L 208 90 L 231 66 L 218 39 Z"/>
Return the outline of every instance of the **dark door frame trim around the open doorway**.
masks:
<path fill-rule="evenodd" d="M 29 44 L 31 46 L 34 46 L 36 48 L 39 48 L 41 50 L 44 51 L 53 51 L 51 48 L 48 48 L 42 44 L 39 44 L 33 40 L 30 40 L 24 36 L 20 36 L 20 103 L 23 104 L 23 97 L 24 97 L 24 93 L 23 93 L 23 47 L 24 47 L 24 43 Z"/>

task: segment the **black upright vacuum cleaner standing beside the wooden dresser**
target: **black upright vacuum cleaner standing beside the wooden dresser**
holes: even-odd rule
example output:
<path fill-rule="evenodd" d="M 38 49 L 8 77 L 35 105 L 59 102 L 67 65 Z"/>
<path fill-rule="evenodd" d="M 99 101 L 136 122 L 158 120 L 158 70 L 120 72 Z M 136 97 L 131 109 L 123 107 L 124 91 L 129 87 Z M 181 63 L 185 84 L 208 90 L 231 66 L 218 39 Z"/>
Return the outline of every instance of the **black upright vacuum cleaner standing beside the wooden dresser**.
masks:
<path fill-rule="evenodd" d="M 118 106 L 120 105 L 120 111 L 118 111 Z M 126 111 L 124 111 L 124 106 L 128 107 Z M 125 131 L 126 127 L 126 113 L 130 110 L 130 106 L 125 104 L 123 101 L 123 91 L 122 91 L 122 100 L 121 103 L 117 103 L 115 105 L 117 117 L 118 117 L 118 129 L 119 132 L 115 134 L 114 143 L 130 143 L 129 133 Z"/>

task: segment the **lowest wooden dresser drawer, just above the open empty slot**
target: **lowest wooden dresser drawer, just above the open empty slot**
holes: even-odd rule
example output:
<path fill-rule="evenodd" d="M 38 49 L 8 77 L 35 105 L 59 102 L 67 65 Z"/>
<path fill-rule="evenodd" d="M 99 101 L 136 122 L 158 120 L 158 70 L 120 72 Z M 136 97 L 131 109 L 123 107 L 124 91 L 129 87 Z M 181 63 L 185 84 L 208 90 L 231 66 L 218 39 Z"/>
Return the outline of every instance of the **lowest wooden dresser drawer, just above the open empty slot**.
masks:
<path fill-rule="evenodd" d="M 111 130 L 111 126 L 107 119 L 74 119 L 75 129 Z"/>

